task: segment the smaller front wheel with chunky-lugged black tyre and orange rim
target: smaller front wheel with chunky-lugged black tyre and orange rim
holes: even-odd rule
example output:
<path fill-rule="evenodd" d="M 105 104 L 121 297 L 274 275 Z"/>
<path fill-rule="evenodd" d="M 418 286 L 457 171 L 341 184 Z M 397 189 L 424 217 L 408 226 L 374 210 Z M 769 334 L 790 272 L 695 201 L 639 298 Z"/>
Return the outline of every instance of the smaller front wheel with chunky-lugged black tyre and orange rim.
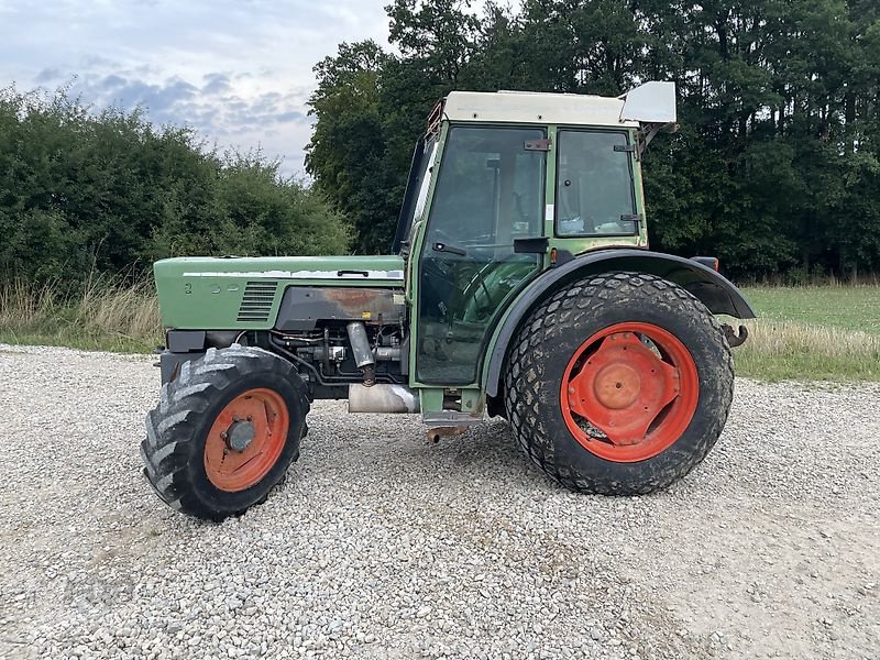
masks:
<path fill-rule="evenodd" d="M 309 410 L 293 365 L 256 348 L 208 349 L 162 387 L 141 443 L 163 502 L 209 520 L 265 501 L 299 458 Z"/>

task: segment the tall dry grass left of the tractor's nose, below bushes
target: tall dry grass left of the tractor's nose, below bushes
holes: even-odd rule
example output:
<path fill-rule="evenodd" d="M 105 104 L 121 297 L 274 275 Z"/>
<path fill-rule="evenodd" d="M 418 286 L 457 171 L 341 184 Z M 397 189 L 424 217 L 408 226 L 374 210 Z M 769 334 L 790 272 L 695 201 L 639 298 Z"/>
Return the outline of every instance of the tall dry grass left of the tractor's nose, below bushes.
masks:
<path fill-rule="evenodd" d="M 162 341 L 153 284 L 91 276 L 69 289 L 14 279 L 0 284 L 0 341 L 145 352 Z"/>

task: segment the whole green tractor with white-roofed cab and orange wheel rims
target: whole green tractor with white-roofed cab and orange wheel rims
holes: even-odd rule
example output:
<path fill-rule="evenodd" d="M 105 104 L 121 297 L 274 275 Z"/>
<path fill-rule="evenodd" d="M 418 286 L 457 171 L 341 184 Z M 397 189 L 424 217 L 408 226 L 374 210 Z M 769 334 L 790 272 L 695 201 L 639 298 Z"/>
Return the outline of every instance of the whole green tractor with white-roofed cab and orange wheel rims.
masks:
<path fill-rule="evenodd" d="M 560 484 L 649 493 L 700 463 L 755 314 L 712 257 L 648 250 L 640 160 L 675 88 L 450 94 L 416 145 L 393 254 L 155 264 L 166 349 L 141 444 L 174 508 L 220 520 L 299 457 L 315 399 L 509 420 Z"/>

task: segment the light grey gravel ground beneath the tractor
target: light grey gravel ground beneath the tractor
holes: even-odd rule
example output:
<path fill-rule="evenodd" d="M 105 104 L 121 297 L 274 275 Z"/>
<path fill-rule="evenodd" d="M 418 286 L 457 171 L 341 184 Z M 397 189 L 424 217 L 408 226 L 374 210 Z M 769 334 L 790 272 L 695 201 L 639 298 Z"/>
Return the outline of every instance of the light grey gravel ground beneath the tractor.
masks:
<path fill-rule="evenodd" d="M 0 345 L 0 657 L 878 658 L 880 385 L 737 381 L 671 490 L 550 483 L 503 422 L 317 403 L 222 525 L 141 476 L 145 358 Z"/>

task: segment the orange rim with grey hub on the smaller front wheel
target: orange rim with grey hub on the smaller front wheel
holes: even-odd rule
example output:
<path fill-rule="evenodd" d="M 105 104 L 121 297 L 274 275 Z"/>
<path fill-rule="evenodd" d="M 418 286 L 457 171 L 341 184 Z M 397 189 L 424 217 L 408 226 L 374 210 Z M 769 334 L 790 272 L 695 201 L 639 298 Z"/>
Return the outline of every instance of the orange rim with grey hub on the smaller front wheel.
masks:
<path fill-rule="evenodd" d="M 290 416 L 273 389 L 249 389 L 229 402 L 205 442 L 205 472 L 220 491 L 258 483 L 282 455 Z"/>

